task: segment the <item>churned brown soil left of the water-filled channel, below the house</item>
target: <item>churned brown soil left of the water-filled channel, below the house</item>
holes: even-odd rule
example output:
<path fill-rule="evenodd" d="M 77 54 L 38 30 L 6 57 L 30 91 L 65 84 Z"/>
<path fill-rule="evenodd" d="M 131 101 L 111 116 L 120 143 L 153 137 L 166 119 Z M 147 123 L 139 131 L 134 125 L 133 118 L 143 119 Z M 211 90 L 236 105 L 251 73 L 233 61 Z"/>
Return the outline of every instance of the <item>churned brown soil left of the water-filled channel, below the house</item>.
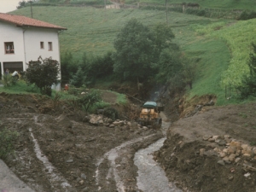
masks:
<path fill-rule="evenodd" d="M 102 98 L 116 101 L 115 94 L 103 94 Z M 131 113 L 122 106 L 113 107 L 119 109 L 120 116 Z M 15 154 L 9 154 L 4 162 L 35 191 L 116 191 L 113 176 L 106 176 L 111 165 L 105 154 L 138 139 L 118 151 L 121 157 L 118 155 L 116 161 L 122 162 L 117 172 L 124 172 L 138 148 L 163 136 L 153 129 L 138 129 L 137 124 L 113 128 L 90 125 L 86 115 L 48 97 L 0 93 L 0 130 L 6 128 L 20 135 L 14 143 Z M 135 191 L 136 166 L 126 168 L 120 177 L 127 191 Z"/>

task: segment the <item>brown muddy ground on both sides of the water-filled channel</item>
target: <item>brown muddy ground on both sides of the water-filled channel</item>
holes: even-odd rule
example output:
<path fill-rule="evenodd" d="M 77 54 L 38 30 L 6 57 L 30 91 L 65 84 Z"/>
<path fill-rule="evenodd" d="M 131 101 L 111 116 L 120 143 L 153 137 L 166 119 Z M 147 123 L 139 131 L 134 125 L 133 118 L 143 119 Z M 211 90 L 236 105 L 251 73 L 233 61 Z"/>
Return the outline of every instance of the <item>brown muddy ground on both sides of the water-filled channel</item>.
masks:
<path fill-rule="evenodd" d="M 115 99 L 113 94 L 103 97 L 119 110 L 120 119 L 131 117 L 131 110 L 114 104 Z M 219 136 L 224 140 L 224 135 L 229 135 L 230 142 L 236 139 L 255 145 L 256 104 L 198 108 L 177 101 L 175 105 L 174 110 L 173 103 L 166 103 L 169 120 L 176 122 L 167 131 L 164 146 L 154 154 L 169 180 L 183 191 L 256 191 L 256 174 L 248 168 L 256 167 L 254 154 L 237 155 L 238 162 L 227 160 L 221 165 L 216 148 L 229 146 L 205 139 Z M 134 154 L 163 137 L 161 132 L 138 129 L 136 124 L 113 128 L 91 125 L 86 117 L 86 113 L 44 96 L 0 93 L 0 130 L 8 128 L 20 134 L 15 154 L 5 163 L 39 192 L 139 191 Z M 179 117 L 182 119 L 177 120 Z"/>

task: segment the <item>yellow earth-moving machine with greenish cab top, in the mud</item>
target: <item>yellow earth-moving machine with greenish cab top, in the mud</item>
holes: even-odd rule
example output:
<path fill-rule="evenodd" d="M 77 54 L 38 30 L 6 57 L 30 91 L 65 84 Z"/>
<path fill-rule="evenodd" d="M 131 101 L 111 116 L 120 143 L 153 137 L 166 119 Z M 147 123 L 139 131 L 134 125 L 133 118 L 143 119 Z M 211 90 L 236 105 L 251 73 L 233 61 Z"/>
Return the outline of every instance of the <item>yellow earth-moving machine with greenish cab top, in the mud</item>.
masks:
<path fill-rule="evenodd" d="M 164 110 L 163 106 L 156 102 L 145 102 L 138 119 L 138 123 L 143 126 L 152 126 L 159 128 L 162 124 L 160 112 Z"/>

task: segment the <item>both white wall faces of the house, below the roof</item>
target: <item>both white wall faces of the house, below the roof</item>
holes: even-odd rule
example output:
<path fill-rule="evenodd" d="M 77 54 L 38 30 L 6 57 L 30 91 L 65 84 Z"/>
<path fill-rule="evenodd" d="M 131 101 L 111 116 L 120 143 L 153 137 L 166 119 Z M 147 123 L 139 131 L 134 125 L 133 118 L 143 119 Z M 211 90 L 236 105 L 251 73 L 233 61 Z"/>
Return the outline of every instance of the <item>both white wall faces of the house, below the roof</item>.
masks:
<path fill-rule="evenodd" d="M 14 42 L 15 53 L 5 54 L 4 42 Z M 41 49 L 40 42 L 44 42 Z M 48 43 L 52 43 L 49 50 Z M 41 56 L 43 59 L 51 57 L 61 63 L 58 30 L 38 27 L 17 27 L 8 22 L 0 21 L 0 62 L 3 71 L 3 62 L 22 61 L 23 70 L 28 67 L 29 61 L 37 61 Z M 61 74 L 59 79 L 61 79 Z M 61 90 L 60 84 L 55 85 L 55 90 Z"/>

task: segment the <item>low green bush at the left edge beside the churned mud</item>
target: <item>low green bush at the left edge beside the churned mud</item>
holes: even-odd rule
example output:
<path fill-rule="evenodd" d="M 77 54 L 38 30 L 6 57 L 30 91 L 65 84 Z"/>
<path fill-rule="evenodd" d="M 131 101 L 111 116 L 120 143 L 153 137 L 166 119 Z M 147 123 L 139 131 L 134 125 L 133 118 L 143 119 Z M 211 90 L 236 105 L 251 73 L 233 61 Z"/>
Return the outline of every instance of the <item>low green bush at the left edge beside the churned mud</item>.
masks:
<path fill-rule="evenodd" d="M 18 136 L 19 133 L 16 131 L 7 129 L 0 131 L 0 158 L 5 158 L 9 153 L 13 152 L 13 143 Z"/>

